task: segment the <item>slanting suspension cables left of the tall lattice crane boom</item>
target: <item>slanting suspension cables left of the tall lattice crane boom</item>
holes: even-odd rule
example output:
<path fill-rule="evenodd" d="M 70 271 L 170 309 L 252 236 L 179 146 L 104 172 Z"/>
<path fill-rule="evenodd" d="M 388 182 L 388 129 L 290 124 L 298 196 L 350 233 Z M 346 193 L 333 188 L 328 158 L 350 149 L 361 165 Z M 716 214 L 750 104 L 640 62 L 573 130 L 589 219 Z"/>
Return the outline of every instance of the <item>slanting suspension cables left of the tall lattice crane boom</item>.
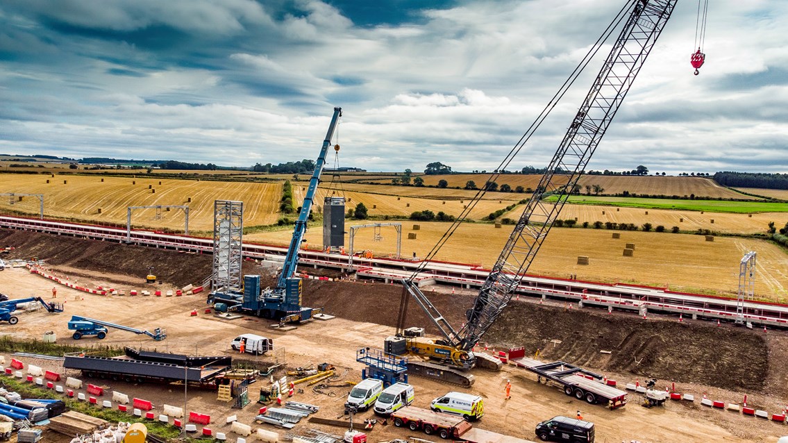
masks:
<path fill-rule="evenodd" d="M 558 103 L 563 96 L 567 94 L 569 88 L 574 84 L 574 81 L 577 80 L 578 76 L 585 70 L 585 68 L 589 65 L 590 61 L 593 57 L 599 52 L 601 47 L 604 45 L 604 42 L 607 41 L 610 36 L 615 32 L 615 29 L 619 27 L 619 24 L 628 16 L 626 13 L 631 6 L 631 2 L 626 2 L 626 4 L 619 10 L 619 13 L 611 20 L 608 24 L 607 28 L 601 33 L 601 35 L 597 38 L 597 41 L 593 43 L 593 45 L 589 48 L 588 52 L 583 56 L 582 60 L 575 66 L 574 70 L 570 73 L 567 77 L 567 80 L 564 80 L 563 84 L 559 87 L 559 90 L 556 91 L 555 95 L 549 100 L 548 104 L 541 110 L 541 113 L 537 116 L 537 118 L 531 123 L 529 128 L 526 132 L 520 137 L 520 140 L 515 143 L 515 146 L 511 148 L 508 152 L 506 157 L 503 161 L 500 162 L 500 165 L 497 169 L 494 170 L 493 173 L 490 174 L 485 184 L 478 190 L 476 195 L 472 199 L 470 199 L 469 203 L 466 207 L 463 208 L 463 211 L 459 214 L 455 221 L 452 222 L 452 225 L 448 227 L 446 232 L 440 237 L 437 243 L 433 246 L 433 248 L 429 251 L 426 255 L 425 259 L 422 260 L 421 263 L 413 270 L 413 273 L 407 280 L 413 280 L 424 268 L 426 265 L 435 258 L 440 248 L 446 244 L 449 238 L 455 233 L 455 231 L 459 228 L 459 225 L 462 225 L 463 221 L 467 218 L 468 214 L 476 207 L 481 198 L 487 193 L 488 184 L 496 181 L 498 177 L 500 177 L 501 171 L 506 169 L 512 162 L 512 160 L 519 154 L 523 147 L 525 147 L 526 143 L 530 140 L 533 133 L 537 131 L 537 129 L 541 126 L 542 122 L 548 117 L 548 115 L 556 108 Z"/>

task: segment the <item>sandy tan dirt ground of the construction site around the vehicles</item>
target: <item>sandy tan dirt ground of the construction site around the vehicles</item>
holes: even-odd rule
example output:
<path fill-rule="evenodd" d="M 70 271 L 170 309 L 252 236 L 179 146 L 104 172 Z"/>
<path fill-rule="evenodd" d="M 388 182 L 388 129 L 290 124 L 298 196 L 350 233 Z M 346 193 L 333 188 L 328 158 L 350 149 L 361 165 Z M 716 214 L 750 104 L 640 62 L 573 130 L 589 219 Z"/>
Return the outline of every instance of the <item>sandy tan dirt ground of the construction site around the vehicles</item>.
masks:
<path fill-rule="evenodd" d="M 101 276 L 91 279 L 91 283 L 101 284 Z M 340 283 L 341 285 L 341 283 Z M 0 273 L 0 288 L 3 292 L 11 292 L 12 296 L 43 296 L 51 297 L 51 281 L 42 277 L 28 274 L 23 269 L 6 270 Z M 359 300 L 335 300 L 350 310 L 366 311 L 381 305 L 380 299 L 385 294 L 382 288 L 371 289 L 366 287 L 363 292 L 368 297 Z M 322 289 L 323 295 L 329 292 L 328 288 Z M 388 289 L 389 291 L 391 289 Z M 359 291 L 356 291 L 359 292 Z M 377 302 L 374 297 L 378 298 Z M 82 299 L 84 297 L 84 300 Z M 370 299 L 370 297 L 372 297 Z M 387 297 L 388 298 L 388 297 Z M 20 315 L 20 322 L 16 326 L 0 325 L 2 333 L 8 333 L 19 338 L 40 338 L 44 331 L 54 330 L 60 343 L 74 343 L 70 338 L 66 322 L 69 315 L 84 315 L 93 318 L 102 318 L 110 322 L 118 322 L 126 326 L 140 329 L 166 327 L 169 337 L 163 342 L 154 342 L 149 339 L 140 339 L 131 333 L 119 330 L 110 330 L 109 336 L 100 344 L 144 346 L 156 348 L 159 351 L 183 352 L 202 355 L 230 355 L 229 341 L 240 333 L 255 332 L 273 337 L 275 346 L 280 350 L 279 358 L 286 359 L 287 367 L 307 367 L 322 362 L 330 362 L 340 367 L 340 374 L 344 380 L 358 380 L 360 378 L 359 363 L 355 363 L 355 350 L 361 347 L 380 347 L 386 336 L 393 332 L 392 327 L 370 322 L 355 322 L 344 318 L 336 318 L 329 322 L 311 322 L 299 326 L 298 329 L 288 333 L 272 331 L 268 322 L 257 318 L 243 318 L 234 321 L 224 321 L 212 315 L 204 315 L 203 296 L 184 297 L 102 297 L 89 296 L 71 289 L 60 288 L 58 300 L 66 301 L 66 311 L 59 315 L 50 315 L 43 311 L 35 311 Z M 386 300 L 385 304 L 392 300 Z M 192 317 L 189 312 L 199 309 L 201 314 Z M 329 309 L 330 312 L 330 309 Z M 88 346 L 98 344 L 95 338 L 83 339 L 78 342 Z M 284 351 L 284 352 L 283 352 Z M 6 359 L 9 356 L 6 355 Z M 273 363 L 275 356 L 262 356 L 257 359 L 261 363 Z M 50 361 L 36 362 L 43 367 L 60 369 L 58 363 Z M 345 373 L 344 368 L 348 368 Z M 78 374 L 72 374 L 78 375 Z M 279 376 L 280 374 L 275 374 Z M 533 426 L 543 419 L 554 415 L 574 415 L 575 411 L 582 410 L 585 419 L 597 423 L 597 441 L 618 442 L 637 440 L 641 442 L 677 442 L 677 441 L 725 441 L 725 442 L 769 442 L 772 443 L 781 434 L 788 434 L 786 426 L 775 423 L 745 418 L 725 411 L 701 408 L 699 404 L 669 403 L 665 408 L 646 409 L 637 403 L 637 396 L 630 394 L 630 404 L 626 408 L 609 411 L 600 406 L 574 400 L 563 395 L 559 389 L 546 385 L 539 385 L 530 373 L 514 367 L 504 367 L 500 373 L 485 371 L 475 372 L 477 382 L 470 393 L 485 397 L 485 417 L 478 423 L 478 427 L 487 430 L 496 430 L 504 434 L 533 439 Z M 611 378 L 626 380 L 632 376 L 608 373 Z M 512 381 L 512 398 L 504 400 L 504 383 L 506 379 Z M 108 380 L 89 380 L 97 384 L 106 385 L 110 390 L 117 389 L 122 393 L 151 400 L 154 404 L 183 404 L 182 386 L 162 385 L 127 385 L 123 382 Z M 267 381 L 259 381 L 260 385 L 267 385 Z M 429 406 L 429 401 L 442 395 L 452 386 L 430 382 L 422 378 L 411 378 L 411 383 L 416 388 L 417 398 L 415 404 L 420 407 Z M 693 389 L 699 394 L 708 392 L 715 396 L 730 396 L 731 401 L 738 399 L 741 393 L 725 391 L 704 385 L 678 385 L 680 389 Z M 336 419 L 342 415 L 344 396 L 348 388 L 330 388 L 324 392 L 333 392 L 335 396 L 314 393 L 310 387 L 305 387 L 304 393 L 296 393 L 294 400 L 322 407 L 319 416 Z M 256 399 L 257 389 L 252 385 L 251 398 Z M 764 396 L 764 404 L 777 404 L 779 399 Z M 229 431 L 229 426 L 222 426 L 224 418 L 237 414 L 242 423 L 252 423 L 257 413 L 257 406 L 250 404 L 243 410 L 231 409 L 229 404 L 216 400 L 216 394 L 210 391 L 188 390 L 188 410 L 210 413 L 214 416 L 216 425 L 214 430 Z M 366 412 L 361 418 L 370 417 Z M 273 426 L 261 425 L 265 429 L 275 430 Z M 314 426 L 310 423 L 300 423 L 296 431 L 303 432 L 308 428 L 319 428 L 334 434 L 341 434 L 342 429 Z M 284 432 L 280 431 L 281 434 Z M 406 437 L 413 434 L 393 426 L 376 426 L 370 434 L 371 441 L 381 441 L 385 438 Z M 423 435 L 421 437 L 424 437 Z"/>

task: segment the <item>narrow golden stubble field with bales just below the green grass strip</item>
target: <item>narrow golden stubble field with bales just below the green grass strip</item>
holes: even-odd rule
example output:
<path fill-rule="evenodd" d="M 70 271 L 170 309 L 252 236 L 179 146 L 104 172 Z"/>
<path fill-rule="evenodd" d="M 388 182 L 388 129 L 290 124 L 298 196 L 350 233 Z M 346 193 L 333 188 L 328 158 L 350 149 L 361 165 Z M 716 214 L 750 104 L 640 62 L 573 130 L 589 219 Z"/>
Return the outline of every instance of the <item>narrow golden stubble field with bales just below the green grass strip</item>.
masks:
<path fill-rule="evenodd" d="M 517 219 L 523 207 L 515 208 L 504 214 L 503 217 Z M 606 223 L 633 223 L 637 229 L 642 229 L 644 223 L 651 223 L 652 229 L 659 225 L 670 231 L 673 226 L 678 226 L 682 231 L 697 231 L 708 229 L 718 233 L 765 233 L 770 221 L 775 225 L 785 225 L 788 222 L 788 213 L 764 212 L 756 214 L 729 214 L 720 212 L 701 212 L 697 210 L 667 210 L 667 209 L 642 209 L 634 207 L 606 207 L 591 205 L 566 204 L 561 210 L 559 218 L 562 220 L 576 219 L 578 225 L 588 221 L 593 225 L 595 221 Z"/>

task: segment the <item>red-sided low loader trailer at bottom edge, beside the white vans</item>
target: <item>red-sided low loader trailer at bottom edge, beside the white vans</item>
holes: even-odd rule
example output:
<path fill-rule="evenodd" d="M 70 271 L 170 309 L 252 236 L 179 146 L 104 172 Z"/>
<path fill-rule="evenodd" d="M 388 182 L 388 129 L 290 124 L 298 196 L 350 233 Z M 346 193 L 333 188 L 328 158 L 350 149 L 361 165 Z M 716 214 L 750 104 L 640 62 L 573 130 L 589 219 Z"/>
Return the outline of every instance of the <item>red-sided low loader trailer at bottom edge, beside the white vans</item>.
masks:
<path fill-rule="evenodd" d="M 422 430 L 427 435 L 437 435 L 448 441 L 467 443 L 533 443 L 521 438 L 508 437 L 488 430 L 475 429 L 459 415 L 430 411 L 429 409 L 406 406 L 392 412 L 394 426 L 410 430 Z"/>

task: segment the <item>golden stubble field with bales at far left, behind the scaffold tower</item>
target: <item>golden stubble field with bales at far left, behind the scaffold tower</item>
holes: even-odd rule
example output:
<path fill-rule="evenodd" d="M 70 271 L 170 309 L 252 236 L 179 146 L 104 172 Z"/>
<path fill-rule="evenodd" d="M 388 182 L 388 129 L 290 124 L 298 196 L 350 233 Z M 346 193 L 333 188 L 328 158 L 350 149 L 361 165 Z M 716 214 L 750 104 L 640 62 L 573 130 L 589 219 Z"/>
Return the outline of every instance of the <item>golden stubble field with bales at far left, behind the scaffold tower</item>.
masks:
<path fill-rule="evenodd" d="M 64 181 L 67 183 L 64 184 Z M 125 224 L 129 206 L 188 205 L 189 229 L 213 231 L 214 200 L 217 199 L 243 201 L 244 225 L 269 225 L 277 221 L 281 184 L 3 174 L 2 192 L 43 194 L 45 217 L 99 223 Z M 39 214 L 39 199 L 36 197 L 26 196 L 22 201 L 18 201 L 18 198 L 15 200 L 11 205 L 8 199 L 0 199 L 0 211 Z M 162 210 L 161 214 L 162 218 L 156 219 L 154 209 L 134 210 L 132 224 L 150 229 L 184 228 L 182 210 Z"/>

